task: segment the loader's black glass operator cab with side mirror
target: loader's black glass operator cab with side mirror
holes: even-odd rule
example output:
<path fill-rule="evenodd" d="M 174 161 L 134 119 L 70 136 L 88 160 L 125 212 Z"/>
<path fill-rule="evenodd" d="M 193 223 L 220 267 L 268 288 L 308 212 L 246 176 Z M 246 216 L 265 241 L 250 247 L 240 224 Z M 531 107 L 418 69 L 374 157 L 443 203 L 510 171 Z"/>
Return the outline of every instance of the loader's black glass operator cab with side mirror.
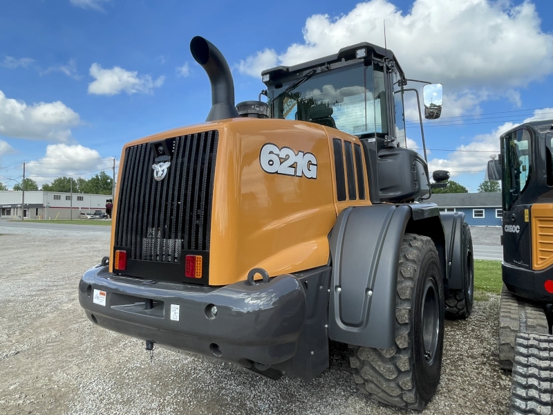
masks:
<path fill-rule="evenodd" d="M 369 43 L 336 55 L 261 73 L 272 118 L 313 122 L 357 136 L 368 165 L 372 203 L 409 202 L 429 194 L 426 161 L 407 149 L 407 79 L 389 49 Z M 442 86 L 424 86 L 425 116 L 439 118 Z M 420 114 L 420 109 L 419 109 Z M 422 140 L 422 116 L 420 116 Z"/>

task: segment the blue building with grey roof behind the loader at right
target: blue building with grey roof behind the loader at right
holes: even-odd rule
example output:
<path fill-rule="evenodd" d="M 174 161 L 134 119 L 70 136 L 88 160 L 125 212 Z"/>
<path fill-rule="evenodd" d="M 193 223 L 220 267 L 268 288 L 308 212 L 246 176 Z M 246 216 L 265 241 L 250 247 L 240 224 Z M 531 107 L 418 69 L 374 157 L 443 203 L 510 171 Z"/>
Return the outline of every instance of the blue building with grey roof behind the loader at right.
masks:
<path fill-rule="evenodd" d="M 428 202 L 435 203 L 442 212 L 463 212 L 471 226 L 501 226 L 503 208 L 500 192 L 438 193 Z"/>

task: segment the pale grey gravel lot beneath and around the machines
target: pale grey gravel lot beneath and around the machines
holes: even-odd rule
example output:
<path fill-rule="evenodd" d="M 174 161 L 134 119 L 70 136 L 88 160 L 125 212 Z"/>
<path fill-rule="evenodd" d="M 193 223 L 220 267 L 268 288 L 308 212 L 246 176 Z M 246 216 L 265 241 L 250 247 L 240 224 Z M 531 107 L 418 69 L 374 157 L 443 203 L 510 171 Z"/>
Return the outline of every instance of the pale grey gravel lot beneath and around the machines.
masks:
<path fill-rule="evenodd" d="M 405 414 L 358 394 L 348 350 L 312 382 L 272 381 L 156 348 L 86 320 L 77 284 L 109 234 L 2 228 L 0 414 Z M 442 381 L 423 414 L 507 414 L 498 297 L 446 322 Z"/>

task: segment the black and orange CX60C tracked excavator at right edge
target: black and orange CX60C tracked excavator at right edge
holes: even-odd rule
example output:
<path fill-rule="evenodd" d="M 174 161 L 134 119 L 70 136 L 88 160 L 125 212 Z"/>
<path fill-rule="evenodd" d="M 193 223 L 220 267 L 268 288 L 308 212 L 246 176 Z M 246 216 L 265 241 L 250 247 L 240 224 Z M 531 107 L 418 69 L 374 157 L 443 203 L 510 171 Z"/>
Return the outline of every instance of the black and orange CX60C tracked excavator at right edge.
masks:
<path fill-rule="evenodd" d="M 487 167 L 503 199 L 500 366 L 512 371 L 511 414 L 553 414 L 553 119 L 500 145 Z"/>

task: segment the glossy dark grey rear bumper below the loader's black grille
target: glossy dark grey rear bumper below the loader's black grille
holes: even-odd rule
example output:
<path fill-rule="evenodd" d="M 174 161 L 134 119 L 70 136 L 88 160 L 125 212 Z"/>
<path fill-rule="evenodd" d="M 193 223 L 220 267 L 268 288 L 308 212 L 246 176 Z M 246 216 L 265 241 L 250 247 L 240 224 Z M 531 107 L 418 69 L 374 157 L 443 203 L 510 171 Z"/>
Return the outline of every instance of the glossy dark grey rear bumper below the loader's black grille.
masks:
<path fill-rule="evenodd" d="M 149 283 L 98 266 L 82 276 L 79 303 L 106 329 L 239 365 L 276 365 L 296 353 L 306 293 L 292 275 L 255 286 Z M 93 302 L 95 290 L 106 293 L 105 305 Z"/>

